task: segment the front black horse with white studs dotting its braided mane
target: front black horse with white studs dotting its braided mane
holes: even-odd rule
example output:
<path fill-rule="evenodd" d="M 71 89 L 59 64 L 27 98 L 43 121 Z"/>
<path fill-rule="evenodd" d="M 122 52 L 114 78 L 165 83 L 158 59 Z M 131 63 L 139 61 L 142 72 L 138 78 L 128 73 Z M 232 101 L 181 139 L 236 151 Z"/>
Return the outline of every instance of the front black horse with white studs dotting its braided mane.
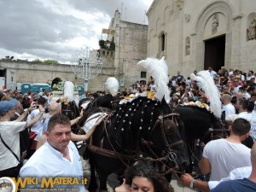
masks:
<path fill-rule="evenodd" d="M 109 113 L 106 108 L 91 108 L 91 113 Z M 163 174 L 189 166 L 183 123 L 166 104 L 139 97 L 121 105 L 96 128 L 88 143 L 90 166 L 96 168 L 100 189 L 107 189 L 108 175 L 123 173 L 136 160 L 150 160 Z M 90 181 L 95 181 L 94 171 Z M 90 191 L 95 186 L 90 183 Z"/>

